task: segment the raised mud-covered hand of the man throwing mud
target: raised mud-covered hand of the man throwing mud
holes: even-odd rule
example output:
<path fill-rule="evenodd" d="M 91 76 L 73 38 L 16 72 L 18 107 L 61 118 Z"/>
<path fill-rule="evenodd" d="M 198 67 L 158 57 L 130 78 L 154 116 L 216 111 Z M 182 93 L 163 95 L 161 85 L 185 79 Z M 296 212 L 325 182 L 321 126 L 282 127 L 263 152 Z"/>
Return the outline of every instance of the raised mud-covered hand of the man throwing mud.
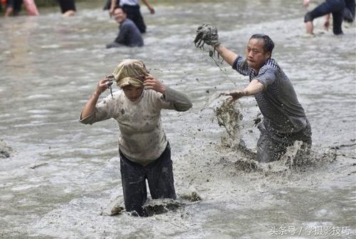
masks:
<path fill-rule="evenodd" d="M 203 24 L 197 29 L 197 36 L 194 39 L 194 45 L 196 47 L 202 48 L 204 44 L 213 46 L 220 45 L 218 29 L 215 26 L 209 24 Z"/>

